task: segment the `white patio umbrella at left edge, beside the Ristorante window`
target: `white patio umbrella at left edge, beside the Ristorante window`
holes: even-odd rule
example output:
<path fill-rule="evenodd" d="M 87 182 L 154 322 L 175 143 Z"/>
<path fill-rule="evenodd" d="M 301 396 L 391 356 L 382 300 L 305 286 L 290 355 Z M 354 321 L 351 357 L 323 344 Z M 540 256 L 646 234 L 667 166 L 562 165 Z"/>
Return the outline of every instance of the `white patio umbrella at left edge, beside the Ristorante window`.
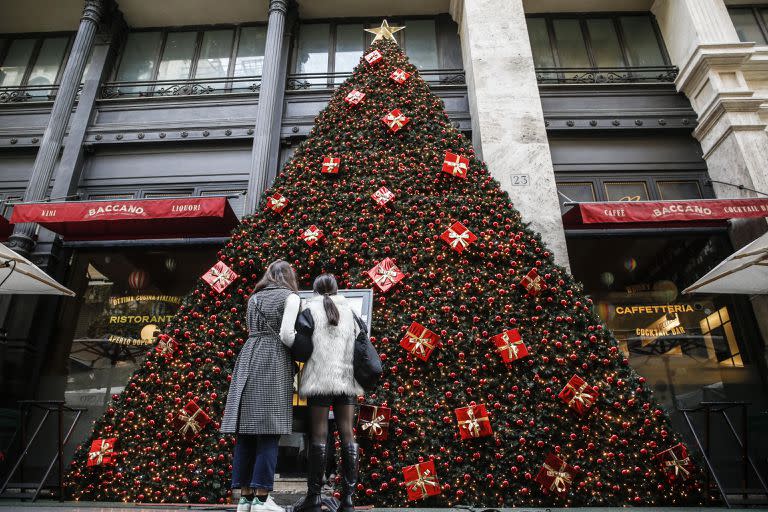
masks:
<path fill-rule="evenodd" d="M 75 292 L 3 244 L 0 244 L 0 294 L 75 296 Z"/>

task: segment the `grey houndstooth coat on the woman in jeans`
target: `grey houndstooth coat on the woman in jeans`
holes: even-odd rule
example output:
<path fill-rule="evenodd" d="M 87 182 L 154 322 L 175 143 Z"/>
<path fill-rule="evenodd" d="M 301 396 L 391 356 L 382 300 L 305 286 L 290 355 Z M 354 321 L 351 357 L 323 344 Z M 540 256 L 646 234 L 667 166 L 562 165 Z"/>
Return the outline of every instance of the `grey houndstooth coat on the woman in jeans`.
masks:
<path fill-rule="evenodd" d="M 221 420 L 222 433 L 291 433 L 293 360 L 279 334 L 285 300 L 291 293 L 287 288 L 267 286 L 248 299 L 248 340 L 235 361 Z"/>

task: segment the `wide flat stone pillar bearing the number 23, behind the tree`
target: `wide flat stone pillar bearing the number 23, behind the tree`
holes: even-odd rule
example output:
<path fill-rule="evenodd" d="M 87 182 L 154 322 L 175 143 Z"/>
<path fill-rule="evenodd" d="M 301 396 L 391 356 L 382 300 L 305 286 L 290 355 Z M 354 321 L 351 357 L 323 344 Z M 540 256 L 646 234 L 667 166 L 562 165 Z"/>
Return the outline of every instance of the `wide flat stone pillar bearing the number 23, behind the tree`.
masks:
<path fill-rule="evenodd" d="M 451 0 L 451 15 L 459 25 L 475 150 L 568 268 L 523 1 Z"/>

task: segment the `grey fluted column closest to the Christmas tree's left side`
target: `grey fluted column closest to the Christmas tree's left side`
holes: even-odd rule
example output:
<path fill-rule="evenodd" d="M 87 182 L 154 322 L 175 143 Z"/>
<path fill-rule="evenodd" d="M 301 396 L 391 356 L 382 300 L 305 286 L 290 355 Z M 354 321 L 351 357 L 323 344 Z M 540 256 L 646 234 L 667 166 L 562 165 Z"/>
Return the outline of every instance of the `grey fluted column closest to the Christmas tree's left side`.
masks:
<path fill-rule="evenodd" d="M 248 194 L 245 198 L 245 213 L 256 211 L 259 197 L 266 190 L 269 182 L 270 149 L 279 130 L 275 132 L 275 116 L 282 103 L 281 81 L 285 81 L 280 72 L 283 50 L 283 33 L 288 12 L 288 0 L 270 0 L 269 20 L 267 21 L 267 41 L 264 47 L 264 65 L 261 71 L 259 105 L 256 111 L 256 126 L 253 133 L 251 151 L 251 174 L 248 178 Z"/>

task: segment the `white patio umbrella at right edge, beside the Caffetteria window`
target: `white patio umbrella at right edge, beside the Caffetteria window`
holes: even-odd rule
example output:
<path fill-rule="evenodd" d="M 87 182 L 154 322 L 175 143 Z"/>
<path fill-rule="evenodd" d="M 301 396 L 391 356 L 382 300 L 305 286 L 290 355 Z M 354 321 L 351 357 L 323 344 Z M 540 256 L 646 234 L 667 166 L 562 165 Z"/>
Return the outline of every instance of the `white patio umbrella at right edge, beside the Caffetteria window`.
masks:
<path fill-rule="evenodd" d="M 768 294 L 768 233 L 728 256 L 683 293 Z"/>

